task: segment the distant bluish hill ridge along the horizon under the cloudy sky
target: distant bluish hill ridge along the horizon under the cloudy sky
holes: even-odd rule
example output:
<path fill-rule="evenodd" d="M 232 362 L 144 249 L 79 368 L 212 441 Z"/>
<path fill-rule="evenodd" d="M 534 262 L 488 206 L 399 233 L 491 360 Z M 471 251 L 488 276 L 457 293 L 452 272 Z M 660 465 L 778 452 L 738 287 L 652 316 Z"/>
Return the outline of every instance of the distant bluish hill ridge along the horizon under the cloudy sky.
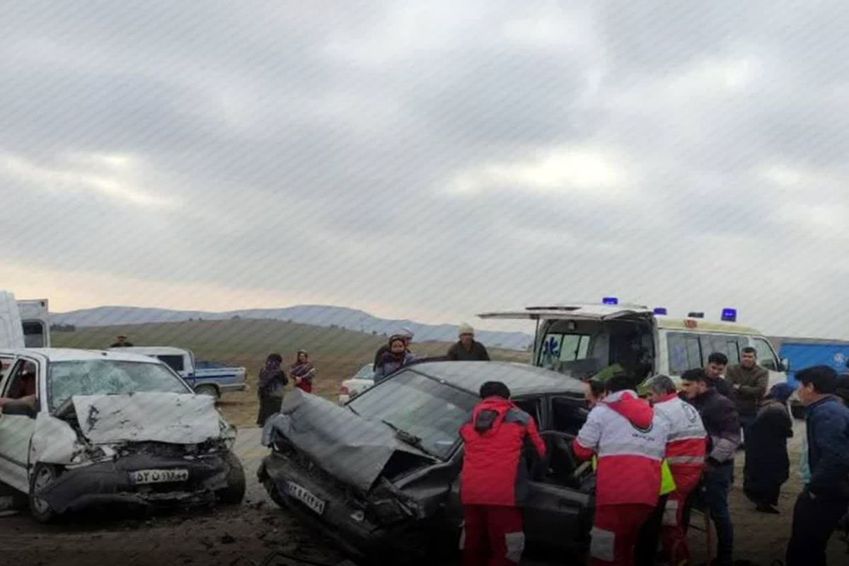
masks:
<path fill-rule="evenodd" d="M 298 305 L 279 309 L 247 309 L 241 311 L 205 312 L 149 309 L 135 306 L 98 306 L 92 309 L 52 313 L 55 324 L 76 327 L 102 327 L 146 324 L 149 322 L 188 322 L 194 320 L 275 320 L 299 322 L 319 327 L 339 327 L 362 333 L 391 334 L 399 328 L 410 328 L 418 342 L 429 340 L 450 342 L 457 339 L 457 326 L 452 324 L 423 324 L 410 320 L 374 317 L 368 312 L 343 306 Z M 470 320 L 469 322 L 474 322 Z M 477 339 L 488 347 L 526 350 L 533 341 L 530 334 L 520 332 L 479 331 Z"/>

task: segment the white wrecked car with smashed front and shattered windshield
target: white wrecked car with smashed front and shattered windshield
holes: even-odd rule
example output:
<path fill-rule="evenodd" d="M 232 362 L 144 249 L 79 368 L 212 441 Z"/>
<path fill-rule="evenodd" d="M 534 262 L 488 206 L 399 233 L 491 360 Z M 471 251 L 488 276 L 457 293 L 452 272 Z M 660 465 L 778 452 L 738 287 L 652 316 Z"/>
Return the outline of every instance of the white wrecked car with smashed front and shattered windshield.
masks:
<path fill-rule="evenodd" d="M 245 496 L 235 429 L 162 362 L 27 349 L 0 350 L 0 367 L 0 481 L 38 520 L 99 503 Z"/>

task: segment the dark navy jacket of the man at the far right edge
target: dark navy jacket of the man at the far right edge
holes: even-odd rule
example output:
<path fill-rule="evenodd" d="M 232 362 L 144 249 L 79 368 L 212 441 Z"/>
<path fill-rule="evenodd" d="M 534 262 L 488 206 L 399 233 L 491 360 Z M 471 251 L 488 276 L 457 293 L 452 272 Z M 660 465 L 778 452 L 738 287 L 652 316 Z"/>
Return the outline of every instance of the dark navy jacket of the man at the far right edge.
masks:
<path fill-rule="evenodd" d="M 808 489 L 849 498 L 849 408 L 834 396 L 807 407 Z"/>

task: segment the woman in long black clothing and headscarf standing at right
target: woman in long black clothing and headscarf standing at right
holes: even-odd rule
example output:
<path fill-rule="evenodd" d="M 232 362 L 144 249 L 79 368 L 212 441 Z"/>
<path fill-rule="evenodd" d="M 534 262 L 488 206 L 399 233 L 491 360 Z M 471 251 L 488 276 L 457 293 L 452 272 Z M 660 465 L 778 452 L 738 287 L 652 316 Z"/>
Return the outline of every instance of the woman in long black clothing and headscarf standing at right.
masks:
<path fill-rule="evenodd" d="M 790 384 L 773 385 L 745 442 L 743 492 L 761 513 L 779 513 L 775 506 L 779 504 L 781 485 L 790 477 L 787 439 L 793 436 L 793 420 L 787 401 L 792 394 Z"/>

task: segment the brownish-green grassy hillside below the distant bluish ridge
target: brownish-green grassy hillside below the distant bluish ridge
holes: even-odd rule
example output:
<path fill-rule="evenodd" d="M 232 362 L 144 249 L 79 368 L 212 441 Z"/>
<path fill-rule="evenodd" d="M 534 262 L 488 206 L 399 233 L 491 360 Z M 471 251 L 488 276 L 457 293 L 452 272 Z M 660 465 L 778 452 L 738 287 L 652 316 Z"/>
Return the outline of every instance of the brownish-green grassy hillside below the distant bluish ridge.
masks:
<path fill-rule="evenodd" d="M 284 357 L 284 367 L 294 360 L 295 352 L 307 350 L 317 369 L 314 392 L 334 400 L 343 379 L 351 377 L 364 364 L 373 361 L 374 352 L 385 338 L 343 328 L 280 322 L 274 320 L 204 320 L 153 322 L 121 326 L 77 328 L 74 332 L 51 333 L 53 346 L 103 349 L 126 333 L 133 345 L 170 345 L 194 351 L 199 360 L 223 361 L 248 368 L 250 390 L 225 395 L 222 412 L 240 426 L 255 426 L 256 374 L 272 352 Z M 413 342 L 419 356 L 443 356 L 448 342 Z M 515 350 L 490 348 L 493 359 L 527 361 L 528 354 Z"/>

